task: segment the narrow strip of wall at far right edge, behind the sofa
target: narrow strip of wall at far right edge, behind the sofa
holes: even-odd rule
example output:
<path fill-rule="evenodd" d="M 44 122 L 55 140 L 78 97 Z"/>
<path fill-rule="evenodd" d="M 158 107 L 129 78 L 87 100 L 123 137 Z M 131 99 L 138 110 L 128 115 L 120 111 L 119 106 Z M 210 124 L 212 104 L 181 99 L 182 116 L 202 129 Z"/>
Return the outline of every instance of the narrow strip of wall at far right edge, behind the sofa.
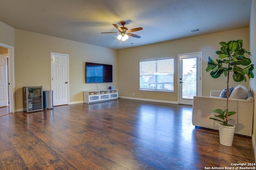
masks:
<path fill-rule="evenodd" d="M 252 131 L 252 143 L 254 146 L 254 155 L 256 154 L 256 0 L 252 0 L 250 17 L 250 52 L 252 53 L 252 64 L 254 64 L 254 78 L 250 81 L 250 90 L 254 96 L 254 121 Z M 255 156 L 256 159 L 256 156 Z"/>

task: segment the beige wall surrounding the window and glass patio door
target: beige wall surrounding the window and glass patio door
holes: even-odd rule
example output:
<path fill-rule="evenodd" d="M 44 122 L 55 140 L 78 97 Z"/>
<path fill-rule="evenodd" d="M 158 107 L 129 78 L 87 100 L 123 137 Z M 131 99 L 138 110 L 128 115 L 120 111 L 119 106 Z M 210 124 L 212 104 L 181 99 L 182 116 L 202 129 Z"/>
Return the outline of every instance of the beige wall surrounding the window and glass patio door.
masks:
<path fill-rule="evenodd" d="M 127 98 L 142 98 L 150 100 L 164 100 L 169 102 L 178 101 L 178 54 L 202 51 L 202 96 L 209 96 L 210 90 L 222 90 L 226 88 L 226 78 L 224 75 L 218 80 L 212 78 L 210 73 L 206 73 L 205 68 L 208 56 L 217 59 L 215 51 L 220 50 L 220 41 L 231 41 L 242 39 L 244 49 L 249 49 L 249 28 L 235 29 L 219 33 L 200 35 L 190 38 L 178 39 L 163 43 L 134 47 L 118 51 L 118 85 L 119 96 Z M 139 62 L 142 60 L 174 57 L 174 93 L 162 92 L 141 92 L 139 91 L 140 81 Z M 239 83 L 230 81 L 231 86 Z M 249 83 L 242 82 L 246 87 Z M 135 96 L 133 96 L 135 93 Z"/>

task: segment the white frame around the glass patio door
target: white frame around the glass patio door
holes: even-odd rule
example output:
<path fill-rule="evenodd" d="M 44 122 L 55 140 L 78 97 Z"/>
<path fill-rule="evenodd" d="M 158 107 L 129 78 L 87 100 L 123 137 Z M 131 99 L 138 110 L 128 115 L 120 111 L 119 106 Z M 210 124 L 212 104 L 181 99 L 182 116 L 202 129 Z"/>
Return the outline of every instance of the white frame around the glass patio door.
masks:
<path fill-rule="evenodd" d="M 198 81 L 197 81 L 197 84 L 198 84 L 197 96 L 202 96 L 202 51 L 194 52 L 194 53 L 178 54 L 178 104 L 180 104 L 180 56 L 182 56 L 182 55 L 192 55 L 192 54 L 200 54 L 199 61 L 198 61 L 198 64 L 200 64 L 199 67 L 198 67 L 200 77 L 198 77 Z"/>

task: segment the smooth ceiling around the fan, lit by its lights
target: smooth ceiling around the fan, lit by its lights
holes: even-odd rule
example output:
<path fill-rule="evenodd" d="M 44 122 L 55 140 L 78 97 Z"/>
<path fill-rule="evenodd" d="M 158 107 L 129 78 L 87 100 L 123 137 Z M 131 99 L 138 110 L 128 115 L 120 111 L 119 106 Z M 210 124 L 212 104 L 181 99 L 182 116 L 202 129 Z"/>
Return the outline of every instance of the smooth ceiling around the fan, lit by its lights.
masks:
<path fill-rule="evenodd" d="M 249 26 L 252 0 L 0 0 L 0 21 L 17 29 L 125 49 Z M 123 44 L 112 23 L 133 32 Z M 120 25 L 121 26 L 121 25 Z M 190 30 L 200 29 L 192 33 Z M 130 43 L 134 43 L 130 45 Z"/>

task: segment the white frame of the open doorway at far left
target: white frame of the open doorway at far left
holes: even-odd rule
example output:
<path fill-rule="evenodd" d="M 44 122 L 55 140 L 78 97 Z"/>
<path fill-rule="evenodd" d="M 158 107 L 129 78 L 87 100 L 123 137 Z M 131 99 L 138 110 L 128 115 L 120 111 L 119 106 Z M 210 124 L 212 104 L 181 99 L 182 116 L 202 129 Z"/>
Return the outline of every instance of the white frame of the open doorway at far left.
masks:
<path fill-rule="evenodd" d="M 0 43 L 0 46 L 8 48 L 8 90 L 9 90 L 9 113 L 16 112 L 14 95 L 14 47 Z"/>

